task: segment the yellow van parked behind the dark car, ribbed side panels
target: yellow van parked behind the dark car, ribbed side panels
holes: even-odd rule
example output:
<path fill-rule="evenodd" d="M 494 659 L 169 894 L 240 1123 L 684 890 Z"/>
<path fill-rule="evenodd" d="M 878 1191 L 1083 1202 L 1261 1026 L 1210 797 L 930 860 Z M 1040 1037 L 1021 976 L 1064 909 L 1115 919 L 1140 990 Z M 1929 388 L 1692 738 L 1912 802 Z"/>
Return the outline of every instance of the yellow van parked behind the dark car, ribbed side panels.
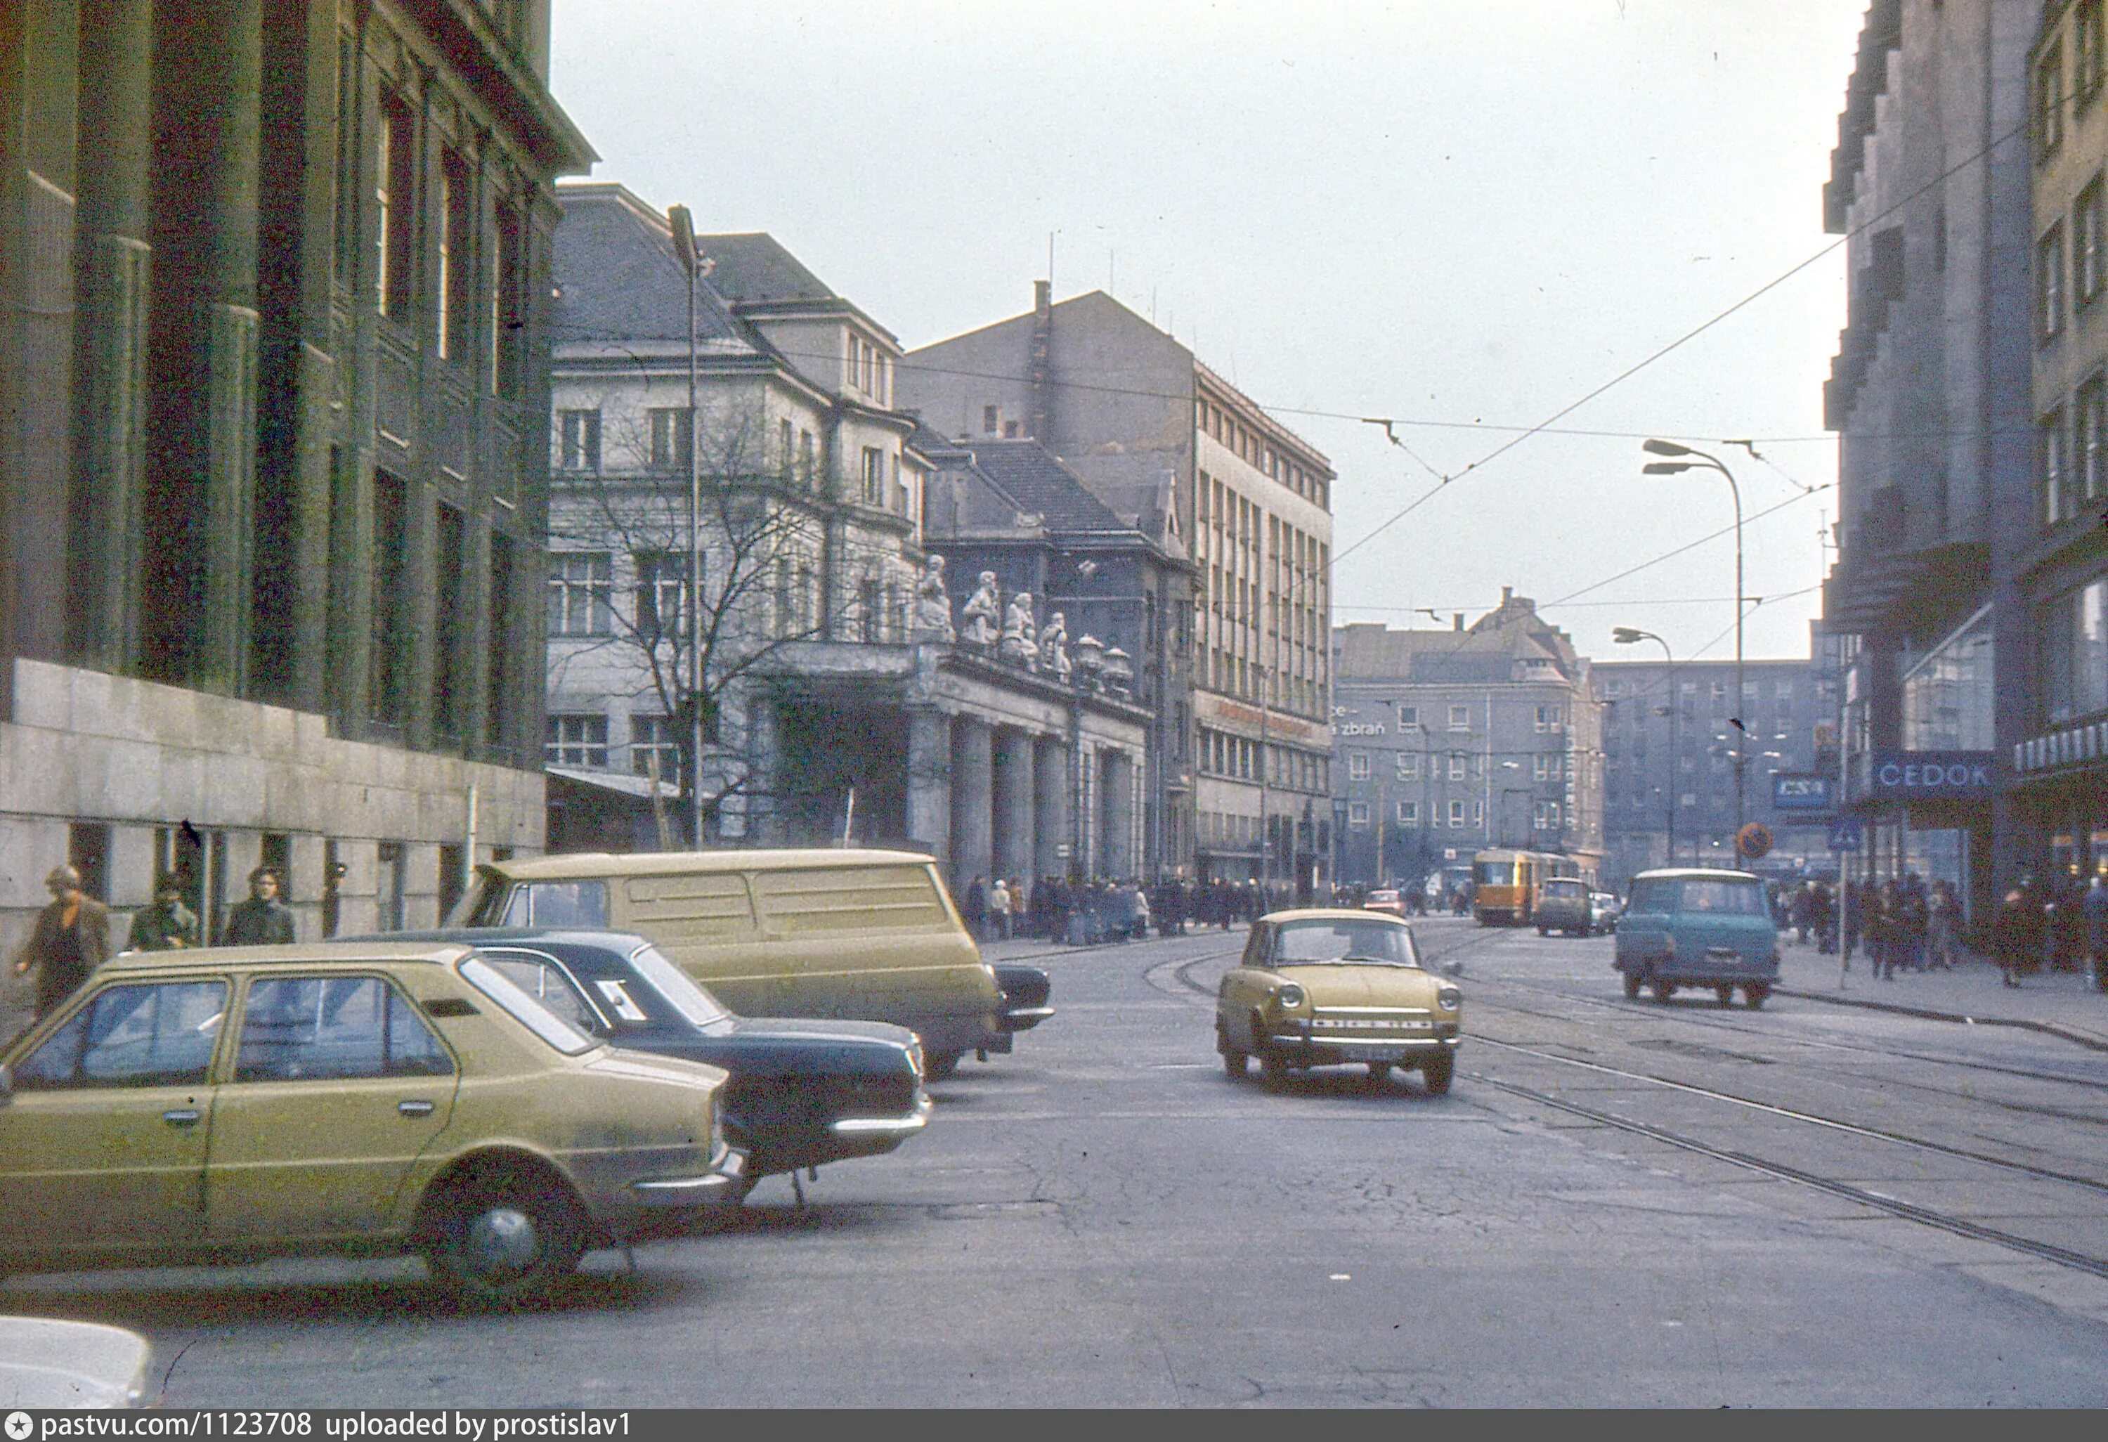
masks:
<path fill-rule="evenodd" d="M 449 925 L 639 932 L 736 1012 L 913 1027 L 934 1077 L 1010 1050 L 995 972 L 928 856 L 590 852 L 476 871 Z"/>

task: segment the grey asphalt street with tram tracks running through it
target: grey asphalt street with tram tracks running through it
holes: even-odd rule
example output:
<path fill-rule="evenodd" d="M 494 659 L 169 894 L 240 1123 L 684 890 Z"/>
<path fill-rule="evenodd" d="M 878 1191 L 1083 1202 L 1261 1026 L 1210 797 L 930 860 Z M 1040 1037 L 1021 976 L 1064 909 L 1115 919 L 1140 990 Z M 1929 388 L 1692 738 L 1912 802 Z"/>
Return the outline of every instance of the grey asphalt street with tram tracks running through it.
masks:
<path fill-rule="evenodd" d="M 2108 1056 L 1773 997 L 1625 1001 L 1611 940 L 1419 925 L 1455 1092 L 1231 1082 L 1244 934 L 1056 951 L 930 1130 L 470 1313 L 422 1265 L 25 1278 L 169 1406 L 2108 1402 Z"/>

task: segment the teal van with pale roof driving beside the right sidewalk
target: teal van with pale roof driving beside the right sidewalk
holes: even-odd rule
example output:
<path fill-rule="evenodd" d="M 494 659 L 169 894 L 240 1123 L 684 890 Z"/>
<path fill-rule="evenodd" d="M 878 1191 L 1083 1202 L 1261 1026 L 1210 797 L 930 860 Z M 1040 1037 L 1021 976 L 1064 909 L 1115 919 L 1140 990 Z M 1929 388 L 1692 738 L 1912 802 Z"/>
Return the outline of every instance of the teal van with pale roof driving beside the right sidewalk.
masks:
<path fill-rule="evenodd" d="M 1712 987 L 1720 1006 L 1741 987 L 1764 1006 L 1779 980 L 1779 932 L 1762 877 L 1745 871 L 1642 871 L 1617 919 L 1617 961 L 1625 995 L 1653 987 L 1667 1001 L 1678 987 Z"/>

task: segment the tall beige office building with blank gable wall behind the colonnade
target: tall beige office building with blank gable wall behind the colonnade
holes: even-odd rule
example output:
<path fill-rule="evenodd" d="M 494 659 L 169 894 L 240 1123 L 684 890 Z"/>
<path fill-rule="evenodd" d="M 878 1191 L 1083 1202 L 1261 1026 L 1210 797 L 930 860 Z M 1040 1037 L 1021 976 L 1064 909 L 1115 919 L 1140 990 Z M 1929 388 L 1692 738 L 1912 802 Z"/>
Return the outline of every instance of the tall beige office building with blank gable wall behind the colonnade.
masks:
<path fill-rule="evenodd" d="M 1151 595 L 1162 666 L 1147 869 L 1311 892 L 1330 852 L 1332 464 L 1105 293 L 936 342 L 902 405 L 953 439 L 1035 439 L 1193 563 Z"/>

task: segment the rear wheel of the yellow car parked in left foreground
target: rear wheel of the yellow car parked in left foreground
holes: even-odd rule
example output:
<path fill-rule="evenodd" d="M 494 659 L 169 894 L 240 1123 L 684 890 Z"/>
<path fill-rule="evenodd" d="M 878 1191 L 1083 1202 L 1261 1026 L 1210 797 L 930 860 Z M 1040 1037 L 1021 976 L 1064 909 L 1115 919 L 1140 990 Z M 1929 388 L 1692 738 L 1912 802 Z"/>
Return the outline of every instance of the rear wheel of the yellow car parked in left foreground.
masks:
<path fill-rule="evenodd" d="M 561 1183 L 533 1174 L 464 1181 L 438 1200 L 424 1261 L 485 1307 L 542 1301 L 578 1269 L 586 1227 Z"/>

